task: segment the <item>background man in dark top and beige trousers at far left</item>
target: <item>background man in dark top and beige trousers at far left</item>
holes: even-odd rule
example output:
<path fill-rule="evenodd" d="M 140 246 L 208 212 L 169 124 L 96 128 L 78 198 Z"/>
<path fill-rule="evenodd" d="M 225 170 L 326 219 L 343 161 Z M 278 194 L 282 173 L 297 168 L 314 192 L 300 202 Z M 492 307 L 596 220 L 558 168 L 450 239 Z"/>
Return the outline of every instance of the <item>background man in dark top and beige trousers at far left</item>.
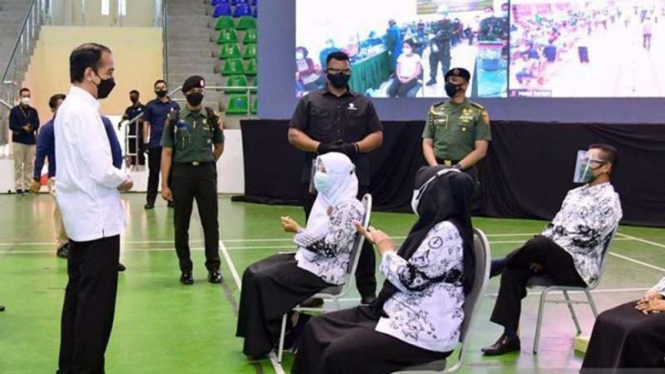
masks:
<path fill-rule="evenodd" d="M 14 189 L 19 195 L 28 191 L 33 173 L 39 114 L 30 106 L 30 90 L 21 88 L 20 104 L 9 113 L 9 129 L 14 148 Z"/>

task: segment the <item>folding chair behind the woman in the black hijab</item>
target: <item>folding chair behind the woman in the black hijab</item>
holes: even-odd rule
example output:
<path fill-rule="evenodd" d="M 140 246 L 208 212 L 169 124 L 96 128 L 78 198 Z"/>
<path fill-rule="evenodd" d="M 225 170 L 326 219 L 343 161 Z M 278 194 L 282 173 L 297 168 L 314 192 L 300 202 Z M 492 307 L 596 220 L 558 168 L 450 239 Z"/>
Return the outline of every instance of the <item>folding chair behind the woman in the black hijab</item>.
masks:
<path fill-rule="evenodd" d="M 473 286 L 464 301 L 464 322 L 462 323 L 459 341 L 461 347 L 459 348 L 455 365 L 446 369 L 448 362 L 444 359 L 424 365 L 412 366 L 393 374 L 450 374 L 462 368 L 464 355 L 466 354 L 469 343 L 469 332 L 476 320 L 478 309 L 482 302 L 481 297 L 485 294 L 485 289 L 489 283 L 490 264 L 492 263 L 489 241 L 485 233 L 479 229 L 473 230 L 473 257 L 476 262 Z"/>

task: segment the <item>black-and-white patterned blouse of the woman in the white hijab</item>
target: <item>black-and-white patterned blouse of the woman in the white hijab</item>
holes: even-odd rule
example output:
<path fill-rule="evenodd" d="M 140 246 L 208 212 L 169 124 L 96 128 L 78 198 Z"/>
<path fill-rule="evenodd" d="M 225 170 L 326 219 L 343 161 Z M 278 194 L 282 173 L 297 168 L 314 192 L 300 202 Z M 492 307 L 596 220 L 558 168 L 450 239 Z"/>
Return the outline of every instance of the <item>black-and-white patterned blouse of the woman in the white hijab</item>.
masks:
<path fill-rule="evenodd" d="M 351 261 L 355 221 L 362 222 L 365 208 L 358 200 L 343 201 L 330 215 L 328 232 L 315 235 L 307 230 L 298 232 L 293 242 L 300 248 L 296 253 L 298 267 L 318 276 L 324 282 L 344 284 Z"/>

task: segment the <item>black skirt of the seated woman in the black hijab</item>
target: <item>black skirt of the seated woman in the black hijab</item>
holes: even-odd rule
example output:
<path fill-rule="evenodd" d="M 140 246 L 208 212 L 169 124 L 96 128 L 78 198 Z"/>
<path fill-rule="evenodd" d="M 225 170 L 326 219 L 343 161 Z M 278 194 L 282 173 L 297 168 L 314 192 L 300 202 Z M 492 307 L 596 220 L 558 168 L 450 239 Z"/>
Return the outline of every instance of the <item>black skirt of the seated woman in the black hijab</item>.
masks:
<path fill-rule="evenodd" d="M 434 352 L 377 332 L 379 315 L 371 307 L 312 318 L 300 338 L 293 374 L 384 374 L 443 360 Z"/>

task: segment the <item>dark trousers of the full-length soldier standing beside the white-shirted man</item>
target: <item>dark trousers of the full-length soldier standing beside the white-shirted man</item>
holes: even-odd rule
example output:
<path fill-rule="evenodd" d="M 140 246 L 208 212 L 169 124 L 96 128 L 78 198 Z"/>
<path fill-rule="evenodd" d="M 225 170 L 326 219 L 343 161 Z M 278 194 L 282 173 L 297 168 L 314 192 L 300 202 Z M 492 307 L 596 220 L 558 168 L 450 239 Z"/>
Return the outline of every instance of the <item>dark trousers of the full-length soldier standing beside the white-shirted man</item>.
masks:
<path fill-rule="evenodd" d="M 217 167 L 214 162 L 202 163 L 198 166 L 174 162 L 171 167 L 171 175 L 175 250 L 180 261 L 180 271 L 191 272 L 193 268 L 189 250 L 189 222 L 192 217 L 194 199 L 196 199 L 203 226 L 206 269 L 218 271 L 220 260 Z"/>

